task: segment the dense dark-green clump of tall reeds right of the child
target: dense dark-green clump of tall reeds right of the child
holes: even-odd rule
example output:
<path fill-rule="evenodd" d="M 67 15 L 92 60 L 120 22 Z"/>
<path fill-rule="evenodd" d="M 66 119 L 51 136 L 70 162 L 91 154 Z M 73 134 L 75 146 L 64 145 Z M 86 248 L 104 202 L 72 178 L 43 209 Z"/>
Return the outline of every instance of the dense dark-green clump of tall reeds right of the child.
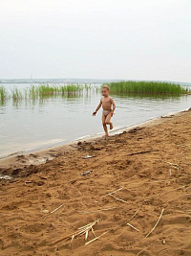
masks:
<path fill-rule="evenodd" d="M 108 84 L 113 94 L 182 95 L 189 92 L 177 83 L 159 81 L 117 81 Z"/>

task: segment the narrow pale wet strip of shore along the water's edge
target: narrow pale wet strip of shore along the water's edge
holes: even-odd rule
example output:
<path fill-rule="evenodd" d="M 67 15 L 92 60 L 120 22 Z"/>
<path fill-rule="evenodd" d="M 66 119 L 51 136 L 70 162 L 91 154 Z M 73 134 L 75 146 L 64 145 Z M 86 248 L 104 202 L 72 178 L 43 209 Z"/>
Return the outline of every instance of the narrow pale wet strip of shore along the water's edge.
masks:
<path fill-rule="evenodd" d="M 180 115 L 182 112 L 185 112 L 185 111 L 189 111 L 189 109 L 184 109 L 184 110 L 181 110 L 179 112 L 168 113 L 164 116 L 153 117 L 153 118 L 150 118 L 150 119 L 148 119 L 144 122 L 129 125 L 129 126 L 126 126 L 126 127 L 123 127 L 123 128 L 117 128 L 115 130 L 110 131 L 110 134 L 111 134 L 110 137 L 114 136 L 116 134 L 120 134 L 124 131 L 128 131 L 132 128 L 137 128 L 137 127 L 144 128 L 144 127 L 147 127 L 147 126 L 154 126 L 156 123 L 158 123 L 160 120 L 162 120 L 162 118 L 177 116 L 177 115 Z M 12 152 L 10 154 L 2 155 L 2 156 L 0 156 L 0 168 L 5 167 L 4 163 L 7 163 L 10 160 L 13 160 L 13 162 L 14 162 L 15 158 L 17 158 L 18 156 L 28 156 L 30 154 L 41 154 L 42 153 L 44 155 L 44 158 L 46 158 L 46 154 L 48 153 L 47 160 L 53 159 L 54 157 L 50 156 L 50 154 L 49 154 L 50 151 L 60 151 L 63 148 L 68 149 L 70 147 L 74 147 L 74 145 L 76 145 L 78 142 L 83 142 L 83 141 L 93 142 L 93 141 L 96 141 L 97 139 L 100 139 L 102 137 L 102 133 L 103 132 L 98 133 L 97 135 L 85 135 L 85 136 L 74 139 L 71 142 L 67 142 L 67 143 L 64 143 L 64 141 L 62 141 L 62 142 L 55 143 L 55 144 L 50 145 L 50 146 L 39 146 L 37 148 L 33 148 L 33 149 L 30 149 L 30 150 L 17 151 L 17 152 Z M 41 163 L 44 163 L 44 162 L 45 161 L 37 163 L 37 161 L 36 161 L 36 164 L 41 164 Z M 31 164 L 31 162 L 29 162 L 29 164 Z"/>

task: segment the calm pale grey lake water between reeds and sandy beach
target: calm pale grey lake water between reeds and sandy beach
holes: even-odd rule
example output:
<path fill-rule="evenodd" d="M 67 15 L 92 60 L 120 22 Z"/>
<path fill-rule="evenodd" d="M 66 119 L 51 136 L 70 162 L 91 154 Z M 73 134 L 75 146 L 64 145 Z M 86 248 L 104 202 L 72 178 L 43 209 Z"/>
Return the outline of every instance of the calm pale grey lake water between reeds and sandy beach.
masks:
<path fill-rule="evenodd" d="M 15 85 L 21 89 L 30 86 L 28 83 L 5 87 L 10 90 Z M 96 117 L 92 116 L 100 98 L 100 93 L 85 93 L 33 103 L 13 104 L 9 100 L 0 105 L 0 157 L 101 134 L 101 110 Z M 113 95 L 113 98 L 117 105 L 114 130 L 191 107 L 191 96 L 161 99 Z"/>

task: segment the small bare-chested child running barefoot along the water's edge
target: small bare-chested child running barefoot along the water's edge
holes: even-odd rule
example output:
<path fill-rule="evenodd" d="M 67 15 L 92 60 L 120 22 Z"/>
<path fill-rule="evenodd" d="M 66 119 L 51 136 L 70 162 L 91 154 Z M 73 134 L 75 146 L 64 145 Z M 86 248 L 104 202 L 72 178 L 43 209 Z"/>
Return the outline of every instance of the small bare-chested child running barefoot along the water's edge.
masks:
<path fill-rule="evenodd" d="M 110 125 L 110 129 L 113 129 L 113 124 L 111 122 L 111 118 L 116 109 L 116 105 L 115 105 L 114 100 L 109 96 L 110 95 L 110 87 L 108 85 L 104 85 L 102 87 L 102 95 L 103 95 L 103 98 L 100 100 L 99 105 L 97 105 L 96 111 L 93 113 L 93 116 L 96 116 L 96 112 L 102 105 L 102 107 L 103 107 L 102 124 L 103 124 L 103 128 L 105 131 L 104 137 L 107 137 L 107 136 L 109 136 L 109 133 L 108 133 L 108 129 L 107 129 L 106 125 Z"/>

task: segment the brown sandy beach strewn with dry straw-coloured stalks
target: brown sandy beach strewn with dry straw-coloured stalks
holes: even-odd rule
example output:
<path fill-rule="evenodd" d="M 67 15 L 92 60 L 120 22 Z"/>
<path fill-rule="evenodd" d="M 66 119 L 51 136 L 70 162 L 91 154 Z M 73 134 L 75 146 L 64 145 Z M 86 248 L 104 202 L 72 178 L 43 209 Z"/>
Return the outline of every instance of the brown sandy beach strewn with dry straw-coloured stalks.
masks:
<path fill-rule="evenodd" d="M 191 255 L 191 111 L 0 166 L 0 255 Z"/>

